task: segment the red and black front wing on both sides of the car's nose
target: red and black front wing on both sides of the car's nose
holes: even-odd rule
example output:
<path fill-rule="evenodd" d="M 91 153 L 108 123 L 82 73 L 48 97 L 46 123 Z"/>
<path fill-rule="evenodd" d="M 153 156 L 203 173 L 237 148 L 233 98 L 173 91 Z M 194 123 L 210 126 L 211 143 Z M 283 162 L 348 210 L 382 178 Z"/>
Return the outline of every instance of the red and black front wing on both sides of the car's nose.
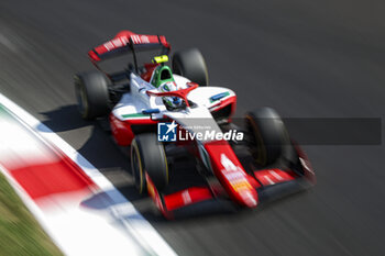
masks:
<path fill-rule="evenodd" d="M 305 153 L 295 146 L 298 162 L 290 169 L 257 169 L 250 174 L 257 193 L 257 205 L 305 190 L 316 183 L 316 176 Z M 146 175 L 148 194 L 166 219 L 184 218 L 218 211 L 233 211 L 240 204 L 232 200 L 216 179 L 206 186 L 189 187 L 172 193 L 157 191 Z"/>

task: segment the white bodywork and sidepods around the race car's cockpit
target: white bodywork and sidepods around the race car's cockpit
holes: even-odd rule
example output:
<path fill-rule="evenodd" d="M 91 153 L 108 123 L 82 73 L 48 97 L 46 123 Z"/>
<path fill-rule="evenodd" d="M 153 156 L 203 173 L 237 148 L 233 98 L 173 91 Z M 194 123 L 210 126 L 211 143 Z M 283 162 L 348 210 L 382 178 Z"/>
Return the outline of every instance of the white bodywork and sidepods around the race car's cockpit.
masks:
<path fill-rule="evenodd" d="M 173 76 L 179 89 L 187 88 L 186 84 L 190 82 L 190 80 L 185 77 L 175 74 Z M 179 111 L 168 111 L 162 97 L 150 97 L 146 93 L 147 90 L 158 91 L 157 88 L 143 80 L 140 76 L 131 74 L 130 92 L 122 96 L 121 100 L 113 108 L 112 114 L 121 121 L 150 118 L 162 119 L 168 116 L 184 127 L 187 127 L 190 132 L 195 130 L 194 127 L 197 127 L 198 124 L 200 124 L 199 121 L 204 120 L 201 125 L 205 125 L 211 131 L 220 132 L 220 127 L 211 115 L 210 108 L 212 110 L 221 101 L 235 96 L 232 90 L 222 87 L 198 87 L 187 96 L 187 99 L 193 101 L 196 107 L 186 108 Z M 223 92 L 226 96 L 221 99 L 216 101 L 210 100 L 212 96 Z M 158 109 L 160 112 L 153 113 L 152 115 L 142 113 L 143 110 L 150 109 Z"/>

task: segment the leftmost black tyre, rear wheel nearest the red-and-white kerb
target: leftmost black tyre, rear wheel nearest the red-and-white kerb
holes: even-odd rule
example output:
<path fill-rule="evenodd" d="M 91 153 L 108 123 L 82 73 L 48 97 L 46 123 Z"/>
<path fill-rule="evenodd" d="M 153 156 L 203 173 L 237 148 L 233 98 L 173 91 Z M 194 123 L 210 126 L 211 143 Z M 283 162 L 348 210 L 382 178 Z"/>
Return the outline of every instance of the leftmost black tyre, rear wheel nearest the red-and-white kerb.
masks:
<path fill-rule="evenodd" d="M 82 119 L 91 120 L 110 111 L 109 79 L 101 71 L 81 73 L 75 76 L 75 92 Z"/>

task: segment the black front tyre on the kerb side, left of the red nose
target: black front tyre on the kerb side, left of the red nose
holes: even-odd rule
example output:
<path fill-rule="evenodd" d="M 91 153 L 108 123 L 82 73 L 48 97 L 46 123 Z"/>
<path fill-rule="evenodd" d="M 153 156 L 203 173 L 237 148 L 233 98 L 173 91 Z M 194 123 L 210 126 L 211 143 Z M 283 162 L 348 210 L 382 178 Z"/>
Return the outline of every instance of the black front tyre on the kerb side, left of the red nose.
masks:
<path fill-rule="evenodd" d="M 147 174 L 158 191 L 168 185 L 168 165 L 161 142 L 153 133 L 138 134 L 131 144 L 131 171 L 140 193 L 146 192 Z"/>

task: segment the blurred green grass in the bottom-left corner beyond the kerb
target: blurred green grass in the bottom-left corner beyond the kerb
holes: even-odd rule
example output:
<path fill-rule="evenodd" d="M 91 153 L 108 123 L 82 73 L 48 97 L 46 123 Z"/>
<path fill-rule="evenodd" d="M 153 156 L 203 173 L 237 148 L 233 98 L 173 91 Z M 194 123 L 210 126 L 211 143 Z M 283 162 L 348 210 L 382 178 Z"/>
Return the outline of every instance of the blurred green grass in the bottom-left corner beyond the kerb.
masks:
<path fill-rule="evenodd" d="M 63 255 L 1 174 L 0 255 Z"/>

